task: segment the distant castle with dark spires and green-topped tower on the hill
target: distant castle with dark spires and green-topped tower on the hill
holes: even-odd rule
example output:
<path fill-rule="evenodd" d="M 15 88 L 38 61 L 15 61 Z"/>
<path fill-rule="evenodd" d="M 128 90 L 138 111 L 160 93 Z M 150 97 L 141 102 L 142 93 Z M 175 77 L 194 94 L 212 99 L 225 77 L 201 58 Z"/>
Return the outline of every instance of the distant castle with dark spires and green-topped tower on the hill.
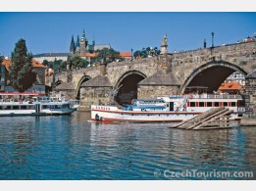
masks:
<path fill-rule="evenodd" d="M 81 38 L 77 35 L 77 42 L 75 43 L 74 35 L 72 36 L 71 46 L 70 46 L 70 54 L 82 56 L 85 53 L 94 53 L 96 50 L 101 50 L 103 48 L 110 49 L 109 44 L 95 44 L 95 40 L 93 39 L 92 44 L 88 43 L 88 39 L 85 36 L 85 32 L 83 29 Z"/>

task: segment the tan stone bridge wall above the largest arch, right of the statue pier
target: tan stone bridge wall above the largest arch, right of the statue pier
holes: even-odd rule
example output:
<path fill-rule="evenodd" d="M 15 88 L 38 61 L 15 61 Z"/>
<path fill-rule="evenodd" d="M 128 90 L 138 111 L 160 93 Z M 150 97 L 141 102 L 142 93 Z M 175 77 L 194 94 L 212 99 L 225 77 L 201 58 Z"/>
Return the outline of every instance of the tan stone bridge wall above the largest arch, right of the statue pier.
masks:
<path fill-rule="evenodd" d="M 214 59 L 228 62 L 249 73 L 256 69 L 255 55 L 253 54 L 255 47 L 256 42 L 250 42 L 174 53 L 172 72 L 183 84 L 192 72 Z"/>

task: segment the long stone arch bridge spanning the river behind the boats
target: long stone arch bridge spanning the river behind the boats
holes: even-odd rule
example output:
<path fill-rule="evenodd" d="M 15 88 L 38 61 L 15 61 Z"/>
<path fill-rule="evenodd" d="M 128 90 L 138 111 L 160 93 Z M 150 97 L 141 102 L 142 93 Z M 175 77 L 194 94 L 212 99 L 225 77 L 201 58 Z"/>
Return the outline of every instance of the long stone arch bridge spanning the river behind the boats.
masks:
<path fill-rule="evenodd" d="M 117 102 L 126 103 L 134 97 L 183 94 L 187 87 L 207 87 L 208 93 L 213 93 L 232 72 L 240 72 L 247 76 L 246 112 L 255 115 L 255 48 L 254 37 L 243 43 L 172 54 L 164 52 L 151 58 L 61 72 L 54 79 L 49 78 L 48 83 L 56 91 L 73 95 L 82 105 L 89 106 L 95 102 L 109 102 L 111 95 Z"/>

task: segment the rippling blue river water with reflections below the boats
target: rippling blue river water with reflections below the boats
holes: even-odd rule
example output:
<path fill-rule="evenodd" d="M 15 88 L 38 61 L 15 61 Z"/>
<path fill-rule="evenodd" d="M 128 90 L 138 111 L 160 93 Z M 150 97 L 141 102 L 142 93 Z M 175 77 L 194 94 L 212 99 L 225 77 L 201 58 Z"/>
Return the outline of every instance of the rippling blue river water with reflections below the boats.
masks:
<path fill-rule="evenodd" d="M 88 118 L 0 118 L 0 179 L 256 179 L 256 127 L 188 131 Z"/>

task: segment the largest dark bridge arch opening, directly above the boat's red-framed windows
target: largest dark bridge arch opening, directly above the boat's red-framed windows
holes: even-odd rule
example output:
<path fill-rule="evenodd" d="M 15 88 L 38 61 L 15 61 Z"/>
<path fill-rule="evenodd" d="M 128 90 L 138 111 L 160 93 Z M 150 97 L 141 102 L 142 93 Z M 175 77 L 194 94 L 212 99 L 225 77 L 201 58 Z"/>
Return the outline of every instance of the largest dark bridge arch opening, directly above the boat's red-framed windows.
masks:
<path fill-rule="evenodd" d="M 179 88 L 183 94 L 188 86 L 208 87 L 208 91 L 217 91 L 221 84 L 233 72 L 239 72 L 244 76 L 247 72 L 243 71 L 237 65 L 225 61 L 211 61 L 190 73 Z"/>

